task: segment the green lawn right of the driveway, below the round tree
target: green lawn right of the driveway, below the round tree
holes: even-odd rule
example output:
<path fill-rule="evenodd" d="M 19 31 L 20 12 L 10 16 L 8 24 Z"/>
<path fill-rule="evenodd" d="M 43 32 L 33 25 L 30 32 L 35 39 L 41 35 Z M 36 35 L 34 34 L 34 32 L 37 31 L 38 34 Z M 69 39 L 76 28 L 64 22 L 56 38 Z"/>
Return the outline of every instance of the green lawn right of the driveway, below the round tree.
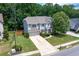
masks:
<path fill-rule="evenodd" d="M 74 40 L 79 40 L 79 38 L 72 37 L 69 35 L 59 35 L 59 36 L 52 36 L 51 38 L 47 39 L 47 41 L 54 46 L 59 45 L 59 44 L 63 44 L 63 43 L 67 43 L 70 41 L 74 41 Z"/>

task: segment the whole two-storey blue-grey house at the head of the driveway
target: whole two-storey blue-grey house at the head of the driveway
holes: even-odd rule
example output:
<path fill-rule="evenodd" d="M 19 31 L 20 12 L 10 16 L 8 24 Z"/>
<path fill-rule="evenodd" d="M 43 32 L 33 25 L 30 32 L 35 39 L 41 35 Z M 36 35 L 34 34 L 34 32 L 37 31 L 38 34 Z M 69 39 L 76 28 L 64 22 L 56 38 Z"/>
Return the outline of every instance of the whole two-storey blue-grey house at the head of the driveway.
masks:
<path fill-rule="evenodd" d="M 33 16 L 26 17 L 23 20 L 24 32 L 30 34 L 39 34 L 40 32 L 52 32 L 51 17 L 47 16 Z"/>

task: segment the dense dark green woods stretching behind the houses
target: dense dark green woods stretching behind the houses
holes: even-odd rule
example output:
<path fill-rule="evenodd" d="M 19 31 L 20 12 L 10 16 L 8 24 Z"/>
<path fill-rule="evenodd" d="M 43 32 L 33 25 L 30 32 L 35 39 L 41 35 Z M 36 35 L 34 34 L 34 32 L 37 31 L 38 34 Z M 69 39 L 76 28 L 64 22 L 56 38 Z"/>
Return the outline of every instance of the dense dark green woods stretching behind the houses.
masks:
<path fill-rule="evenodd" d="M 56 12 L 63 11 L 70 18 L 79 17 L 79 10 L 74 9 L 73 5 L 58 4 L 37 4 L 37 3 L 16 3 L 0 4 L 0 13 L 4 16 L 4 27 L 9 31 L 23 29 L 23 19 L 27 16 L 53 16 Z M 16 22 L 15 22 L 16 19 Z"/>

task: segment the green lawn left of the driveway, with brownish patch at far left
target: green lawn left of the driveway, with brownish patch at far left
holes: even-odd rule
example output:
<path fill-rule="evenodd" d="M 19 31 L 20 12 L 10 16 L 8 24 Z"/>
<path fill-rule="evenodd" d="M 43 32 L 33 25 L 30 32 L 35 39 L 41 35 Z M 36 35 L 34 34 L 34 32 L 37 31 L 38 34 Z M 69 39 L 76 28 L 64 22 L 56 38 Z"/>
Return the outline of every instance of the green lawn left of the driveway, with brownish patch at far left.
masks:
<path fill-rule="evenodd" d="M 0 42 L 0 56 L 7 56 L 8 52 L 11 51 L 11 47 L 14 45 L 14 40 L 12 39 L 13 32 L 10 32 L 9 35 L 10 35 L 9 41 Z M 29 51 L 37 50 L 33 42 L 30 39 L 25 38 L 23 35 L 16 36 L 16 44 L 22 46 L 22 52 L 29 52 Z"/>

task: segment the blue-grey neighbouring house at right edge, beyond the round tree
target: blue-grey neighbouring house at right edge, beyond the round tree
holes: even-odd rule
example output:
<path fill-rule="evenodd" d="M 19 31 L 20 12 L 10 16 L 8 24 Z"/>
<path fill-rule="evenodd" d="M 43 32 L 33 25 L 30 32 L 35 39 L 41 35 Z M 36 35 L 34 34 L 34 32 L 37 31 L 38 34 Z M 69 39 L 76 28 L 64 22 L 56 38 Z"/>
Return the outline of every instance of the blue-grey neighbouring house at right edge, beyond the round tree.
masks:
<path fill-rule="evenodd" d="M 79 18 L 72 18 L 70 20 L 70 29 L 71 31 L 79 31 Z"/>

